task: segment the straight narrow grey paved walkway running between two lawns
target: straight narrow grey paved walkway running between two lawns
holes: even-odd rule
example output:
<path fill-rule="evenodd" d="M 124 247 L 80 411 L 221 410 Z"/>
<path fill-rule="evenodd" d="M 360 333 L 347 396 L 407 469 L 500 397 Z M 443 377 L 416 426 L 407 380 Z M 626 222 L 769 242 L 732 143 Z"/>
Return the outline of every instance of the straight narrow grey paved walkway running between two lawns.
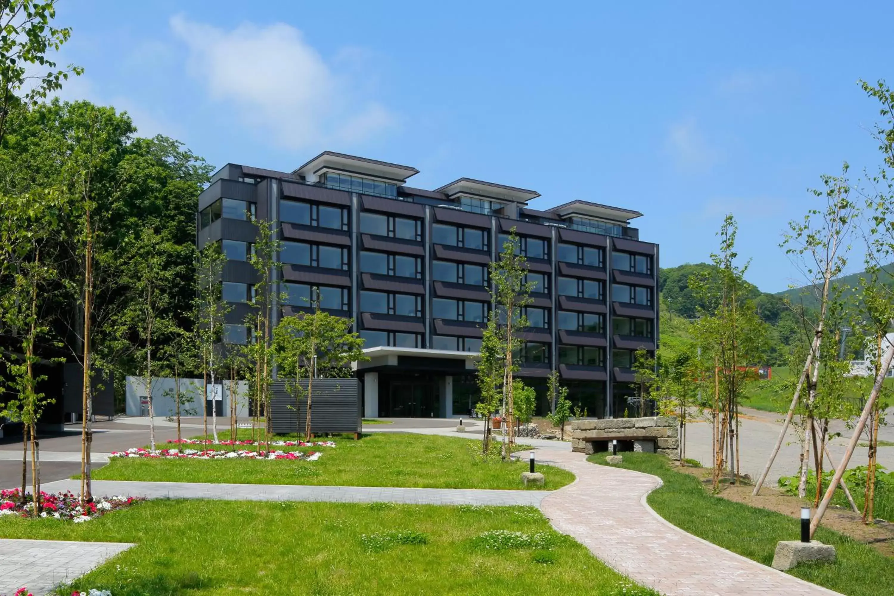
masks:
<path fill-rule="evenodd" d="M 45 483 L 47 492 L 80 491 L 80 480 Z M 338 503 L 390 501 L 411 505 L 529 505 L 538 507 L 549 491 L 408 489 L 378 486 L 294 486 L 288 484 L 141 483 L 94 480 L 93 492 L 150 499 L 300 500 Z"/>

